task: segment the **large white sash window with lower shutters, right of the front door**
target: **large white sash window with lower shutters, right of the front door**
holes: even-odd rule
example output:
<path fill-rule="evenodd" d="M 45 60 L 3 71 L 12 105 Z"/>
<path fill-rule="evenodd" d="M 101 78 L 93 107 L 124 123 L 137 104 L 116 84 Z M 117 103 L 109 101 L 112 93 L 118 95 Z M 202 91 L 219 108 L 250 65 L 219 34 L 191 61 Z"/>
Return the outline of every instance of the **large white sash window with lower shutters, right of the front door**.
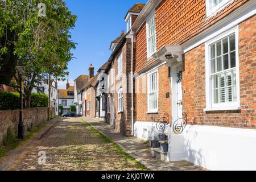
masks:
<path fill-rule="evenodd" d="M 208 109 L 239 109 L 238 33 L 224 34 L 207 43 L 206 49 Z"/>

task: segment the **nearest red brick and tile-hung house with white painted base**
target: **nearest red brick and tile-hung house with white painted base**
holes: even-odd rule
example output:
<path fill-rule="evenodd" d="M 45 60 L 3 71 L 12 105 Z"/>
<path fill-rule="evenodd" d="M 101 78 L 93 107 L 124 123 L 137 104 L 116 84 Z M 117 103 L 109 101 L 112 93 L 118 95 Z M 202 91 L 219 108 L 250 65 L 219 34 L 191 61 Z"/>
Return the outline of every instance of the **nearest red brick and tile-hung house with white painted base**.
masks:
<path fill-rule="evenodd" d="M 168 161 L 255 169 L 255 13 L 247 0 L 148 1 L 129 32 L 132 133 L 152 139 L 168 116 Z"/>

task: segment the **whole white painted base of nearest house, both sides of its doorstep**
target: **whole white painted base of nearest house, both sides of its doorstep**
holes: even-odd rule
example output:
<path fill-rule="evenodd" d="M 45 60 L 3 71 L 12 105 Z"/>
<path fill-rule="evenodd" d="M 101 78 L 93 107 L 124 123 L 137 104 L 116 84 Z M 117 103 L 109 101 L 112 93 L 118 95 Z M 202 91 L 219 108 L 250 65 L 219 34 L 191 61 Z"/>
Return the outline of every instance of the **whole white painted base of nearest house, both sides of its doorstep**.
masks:
<path fill-rule="evenodd" d="M 134 123 L 135 137 L 148 140 L 158 134 L 156 123 Z M 256 130 L 188 125 L 183 135 L 174 135 L 171 127 L 167 134 L 168 161 L 185 159 L 210 170 L 256 170 Z"/>

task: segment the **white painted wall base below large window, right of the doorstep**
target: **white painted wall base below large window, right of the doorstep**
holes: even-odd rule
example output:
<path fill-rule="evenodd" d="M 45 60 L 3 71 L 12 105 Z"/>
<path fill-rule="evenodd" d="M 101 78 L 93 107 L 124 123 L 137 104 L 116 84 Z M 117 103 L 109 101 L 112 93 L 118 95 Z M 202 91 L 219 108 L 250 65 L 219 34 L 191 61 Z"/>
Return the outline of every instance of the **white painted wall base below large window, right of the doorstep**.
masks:
<path fill-rule="evenodd" d="M 187 126 L 186 159 L 210 170 L 256 170 L 256 130 Z"/>

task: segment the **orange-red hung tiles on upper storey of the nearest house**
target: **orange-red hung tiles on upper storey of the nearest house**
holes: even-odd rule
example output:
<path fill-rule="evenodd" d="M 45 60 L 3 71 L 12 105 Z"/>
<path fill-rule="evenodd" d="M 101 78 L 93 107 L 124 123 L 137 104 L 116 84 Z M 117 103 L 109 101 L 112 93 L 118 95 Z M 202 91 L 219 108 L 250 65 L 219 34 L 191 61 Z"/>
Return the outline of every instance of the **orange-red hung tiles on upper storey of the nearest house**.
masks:
<path fill-rule="evenodd" d="M 170 44 L 183 44 L 213 26 L 249 0 L 234 0 L 218 13 L 207 18 L 205 0 L 163 0 L 155 11 L 156 49 Z M 154 63 L 147 60 L 146 23 L 137 32 L 135 72 Z"/>

